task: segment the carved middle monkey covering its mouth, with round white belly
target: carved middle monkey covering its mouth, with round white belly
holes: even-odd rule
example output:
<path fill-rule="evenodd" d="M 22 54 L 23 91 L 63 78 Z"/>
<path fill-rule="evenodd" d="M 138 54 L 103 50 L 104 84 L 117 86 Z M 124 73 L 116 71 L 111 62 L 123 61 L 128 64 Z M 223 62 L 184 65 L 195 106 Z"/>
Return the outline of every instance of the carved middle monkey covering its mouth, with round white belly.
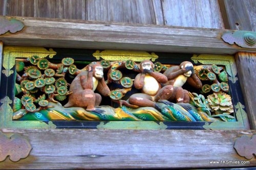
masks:
<path fill-rule="evenodd" d="M 169 98 L 170 87 L 162 88 L 161 83 L 167 82 L 167 77 L 160 72 L 153 71 L 154 64 L 150 60 L 144 60 L 139 65 L 141 73 L 135 77 L 134 86 L 142 93 L 130 96 L 129 103 L 140 107 L 154 107 L 160 110 L 156 102 L 163 102 Z M 125 103 L 123 103 L 125 104 Z"/>

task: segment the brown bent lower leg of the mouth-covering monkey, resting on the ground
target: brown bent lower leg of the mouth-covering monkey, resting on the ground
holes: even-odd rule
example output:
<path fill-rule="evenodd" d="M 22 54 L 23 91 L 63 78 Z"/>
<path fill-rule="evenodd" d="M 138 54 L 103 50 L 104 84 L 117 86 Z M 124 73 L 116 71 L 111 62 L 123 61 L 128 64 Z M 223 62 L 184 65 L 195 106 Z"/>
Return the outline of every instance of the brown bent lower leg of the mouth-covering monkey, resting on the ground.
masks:
<path fill-rule="evenodd" d="M 156 103 L 153 102 L 153 97 L 144 93 L 136 93 L 130 96 L 129 103 L 141 107 L 155 107 Z"/>

